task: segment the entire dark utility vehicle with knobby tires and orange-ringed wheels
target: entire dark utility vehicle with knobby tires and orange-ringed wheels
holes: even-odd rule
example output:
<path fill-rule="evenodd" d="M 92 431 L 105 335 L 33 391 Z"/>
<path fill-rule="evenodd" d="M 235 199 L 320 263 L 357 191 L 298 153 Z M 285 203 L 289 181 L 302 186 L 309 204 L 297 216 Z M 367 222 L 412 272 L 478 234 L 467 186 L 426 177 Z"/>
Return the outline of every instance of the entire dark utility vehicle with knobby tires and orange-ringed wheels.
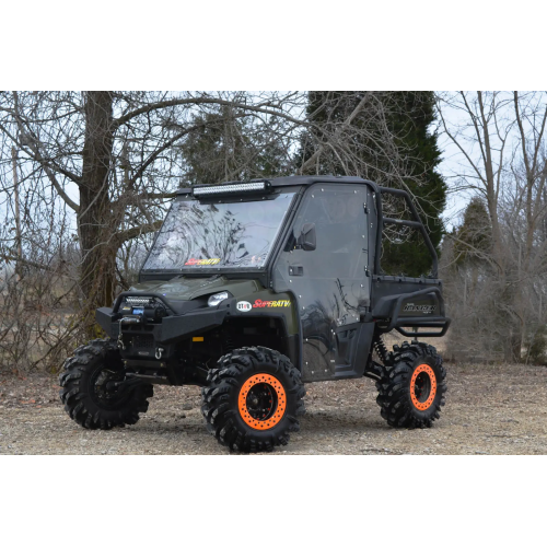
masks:
<path fill-rule="evenodd" d="M 387 195 L 403 214 L 384 217 Z M 382 274 L 386 226 L 421 233 L 430 277 Z M 435 348 L 382 340 L 446 333 L 434 247 L 407 193 L 359 177 L 181 189 L 139 283 L 96 318 L 108 338 L 60 374 L 67 412 L 89 429 L 136 423 L 153 384 L 202 386 L 209 431 L 241 452 L 287 444 L 306 382 L 374 379 L 393 427 L 430 427 L 444 405 Z"/>

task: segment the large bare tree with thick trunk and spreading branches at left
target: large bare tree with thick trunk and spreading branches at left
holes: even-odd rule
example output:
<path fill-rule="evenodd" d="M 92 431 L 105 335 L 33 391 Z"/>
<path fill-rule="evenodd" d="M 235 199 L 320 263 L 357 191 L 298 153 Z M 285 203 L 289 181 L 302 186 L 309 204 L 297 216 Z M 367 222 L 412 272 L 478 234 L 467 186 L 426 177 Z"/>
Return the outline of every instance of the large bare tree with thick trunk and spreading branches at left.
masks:
<path fill-rule="evenodd" d="M 55 199 L 75 213 L 89 335 L 94 310 L 110 304 L 116 292 L 120 247 L 159 228 L 164 200 L 181 185 L 186 165 L 178 144 L 219 124 L 234 128 L 233 120 L 244 117 L 253 117 L 271 142 L 287 139 L 301 124 L 290 114 L 298 101 L 293 93 L 0 94 L 2 144 L 19 150 L 26 183 L 46 181 Z M 278 118 L 286 121 L 282 135 Z"/>

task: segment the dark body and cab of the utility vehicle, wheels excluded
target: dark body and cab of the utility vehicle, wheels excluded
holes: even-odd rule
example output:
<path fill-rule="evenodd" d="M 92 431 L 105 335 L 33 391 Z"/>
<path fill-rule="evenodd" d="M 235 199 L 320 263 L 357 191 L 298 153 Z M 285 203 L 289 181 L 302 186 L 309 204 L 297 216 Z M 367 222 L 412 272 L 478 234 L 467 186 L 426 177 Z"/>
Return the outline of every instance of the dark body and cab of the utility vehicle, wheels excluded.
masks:
<path fill-rule="evenodd" d="M 403 214 L 383 214 L 386 197 Z M 428 277 L 383 275 L 388 226 L 421 234 Z M 335 176 L 181 189 L 139 283 L 96 316 L 128 376 L 174 385 L 206 385 L 219 358 L 251 346 L 287 356 L 304 382 L 377 377 L 381 335 L 443 336 L 450 325 L 408 194 Z"/>

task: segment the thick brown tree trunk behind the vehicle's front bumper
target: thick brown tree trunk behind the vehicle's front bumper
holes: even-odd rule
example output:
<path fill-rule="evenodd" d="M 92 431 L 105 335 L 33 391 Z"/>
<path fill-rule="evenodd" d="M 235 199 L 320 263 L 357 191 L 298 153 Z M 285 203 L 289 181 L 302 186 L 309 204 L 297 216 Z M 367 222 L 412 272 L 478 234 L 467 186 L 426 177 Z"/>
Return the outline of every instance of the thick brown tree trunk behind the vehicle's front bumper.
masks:
<path fill-rule="evenodd" d="M 83 321 L 96 336 L 96 307 L 110 305 L 116 286 L 117 223 L 108 195 L 114 142 L 113 98 L 108 91 L 85 93 L 85 141 L 78 229 L 82 249 Z"/>

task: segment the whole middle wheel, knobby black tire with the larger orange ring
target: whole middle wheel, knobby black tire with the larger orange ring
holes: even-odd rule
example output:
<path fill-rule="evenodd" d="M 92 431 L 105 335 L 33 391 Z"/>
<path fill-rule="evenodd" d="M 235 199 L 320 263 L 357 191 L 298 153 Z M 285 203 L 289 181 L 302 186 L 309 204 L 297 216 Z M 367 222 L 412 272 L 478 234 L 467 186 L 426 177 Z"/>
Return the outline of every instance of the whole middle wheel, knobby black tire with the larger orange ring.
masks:
<path fill-rule="evenodd" d="M 305 388 L 289 359 L 268 348 L 242 348 L 219 360 L 202 388 L 209 431 L 238 452 L 271 451 L 300 430 Z"/>

